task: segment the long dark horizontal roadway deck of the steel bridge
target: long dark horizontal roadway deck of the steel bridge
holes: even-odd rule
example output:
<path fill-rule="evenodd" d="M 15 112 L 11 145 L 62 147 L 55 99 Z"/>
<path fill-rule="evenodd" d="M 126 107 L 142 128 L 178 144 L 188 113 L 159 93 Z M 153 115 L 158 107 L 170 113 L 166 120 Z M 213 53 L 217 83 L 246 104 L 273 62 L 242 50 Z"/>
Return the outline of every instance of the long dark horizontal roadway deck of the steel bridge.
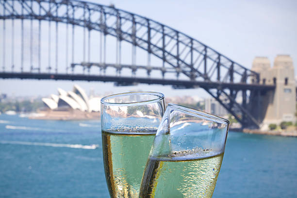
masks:
<path fill-rule="evenodd" d="M 0 72 L 3 79 L 38 79 L 38 80 L 70 80 L 70 81 L 101 81 L 115 82 L 116 85 L 135 85 L 137 83 L 172 85 L 173 88 L 204 88 L 204 89 L 233 89 L 233 90 L 273 90 L 275 85 L 189 81 L 162 78 L 141 78 L 128 76 L 107 76 L 90 74 L 61 74 L 61 73 L 33 73 L 33 72 Z"/>

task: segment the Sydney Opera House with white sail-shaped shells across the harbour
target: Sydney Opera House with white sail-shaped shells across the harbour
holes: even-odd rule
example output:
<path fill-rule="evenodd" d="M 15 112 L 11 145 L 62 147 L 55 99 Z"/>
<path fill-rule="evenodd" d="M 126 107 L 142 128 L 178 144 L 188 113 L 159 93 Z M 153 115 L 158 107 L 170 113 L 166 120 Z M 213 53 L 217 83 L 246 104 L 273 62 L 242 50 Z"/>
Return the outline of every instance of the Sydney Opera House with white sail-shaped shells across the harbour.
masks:
<path fill-rule="evenodd" d="M 39 110 L 35 119 L 80 120 L 100 118 L 100 98 L 89 98 L 84 90 L 74 85 L 72 91 L 58 88 L 58 95 L 43 98 L 45 108 Z"/>

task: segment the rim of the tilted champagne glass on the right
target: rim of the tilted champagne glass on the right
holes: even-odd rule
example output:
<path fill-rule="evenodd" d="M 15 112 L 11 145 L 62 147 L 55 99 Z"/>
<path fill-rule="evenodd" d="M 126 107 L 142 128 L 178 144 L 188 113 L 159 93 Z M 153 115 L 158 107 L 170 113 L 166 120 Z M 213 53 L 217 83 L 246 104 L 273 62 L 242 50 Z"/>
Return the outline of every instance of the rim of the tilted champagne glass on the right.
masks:
<path fill-rule="evenodd" d="M 181 111 L 181 112 L 183 112 L 185 114 L 190 114 L 190 115 L 193 115 L 195 117 L 210 120 L 210 121 L 213 121 L 213 122 L 217 122 L 217 123 L 221 123 L 221 124 L 227 124 L 227 125 L 230 124 L 230 121 L 225 119 L 225 118 L 219 117 L 217 115 L 209 114 L 209 113 L 197 110 L 197 109 L 193 109 L 193 108 L 190 108 L 190 107 L 185 107 L 185 106 L 182 106 L 182 105 L 179 105 L 179 104 L 168 103 L 167 109 L 168 108 L 172 108 L 172 109 Z"/>

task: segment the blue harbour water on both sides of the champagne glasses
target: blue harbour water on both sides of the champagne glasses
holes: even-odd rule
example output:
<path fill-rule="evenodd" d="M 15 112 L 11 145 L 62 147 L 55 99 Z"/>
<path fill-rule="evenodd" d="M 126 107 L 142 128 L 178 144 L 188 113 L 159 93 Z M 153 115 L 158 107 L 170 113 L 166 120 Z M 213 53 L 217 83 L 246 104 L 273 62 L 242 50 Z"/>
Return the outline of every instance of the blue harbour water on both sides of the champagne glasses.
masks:
<path fill-rule="evenodd" d="M 213 198 L 296 198 L 296 152 L 294 137 L 229 132 Z M 0 198 L 96 197 L 109 197 L 99 121 L 0 115 Z"/>

